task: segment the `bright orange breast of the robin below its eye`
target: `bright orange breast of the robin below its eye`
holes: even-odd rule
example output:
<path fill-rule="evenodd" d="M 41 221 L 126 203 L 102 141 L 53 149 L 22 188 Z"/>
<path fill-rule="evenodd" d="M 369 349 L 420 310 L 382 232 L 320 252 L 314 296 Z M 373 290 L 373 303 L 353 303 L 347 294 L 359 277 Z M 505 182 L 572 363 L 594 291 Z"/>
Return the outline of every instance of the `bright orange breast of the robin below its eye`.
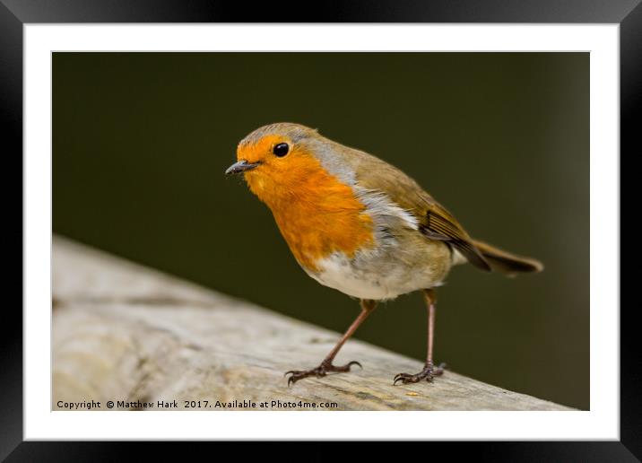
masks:
<path fill-rule="evenodd" d="M 334 251 L 349 257 L 374 244 L 373 223 L 352 189 L 327 172 L 314 157 L 292 157 L 283 169 L 246 174 L 249 188 L 273 212 L 301 266 L 317 271 L 317 260 Z"/>

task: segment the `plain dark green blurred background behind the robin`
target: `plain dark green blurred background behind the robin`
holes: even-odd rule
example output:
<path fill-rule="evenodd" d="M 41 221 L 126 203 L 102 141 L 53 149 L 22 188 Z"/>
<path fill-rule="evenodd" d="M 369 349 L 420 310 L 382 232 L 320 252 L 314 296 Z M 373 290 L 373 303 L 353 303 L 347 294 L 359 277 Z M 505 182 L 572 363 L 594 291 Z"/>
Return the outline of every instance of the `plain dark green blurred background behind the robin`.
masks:
<path fill-rule="evenodd" d="M 437 361 L 589 407 L 587 53 L 56 53 L 53 69 L 54 232 L 343 332 L 357 302 L 305 275 L 223 175 L 256 127 L 317 127 L 544 262 L 516 279 L 455 267 Z M 425 324 L 412 294 L 357 337 L 423 359 Z"/>

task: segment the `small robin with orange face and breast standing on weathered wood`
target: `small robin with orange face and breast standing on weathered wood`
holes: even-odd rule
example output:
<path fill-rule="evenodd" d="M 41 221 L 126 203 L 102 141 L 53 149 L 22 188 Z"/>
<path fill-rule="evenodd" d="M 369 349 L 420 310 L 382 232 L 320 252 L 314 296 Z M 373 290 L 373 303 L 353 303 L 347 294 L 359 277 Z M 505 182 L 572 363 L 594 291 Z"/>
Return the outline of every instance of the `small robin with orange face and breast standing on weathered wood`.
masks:
<path fill-rule="evenodd" d="M 428 309 L 428 354 L 419 373 L 399 373 L 394 384 L 432 381 L 435 288 L 450 268 L 469 263 L 486 272 L 539 272 L 533 258 L 473 240 L 453 214 L 401 170 L 336 143 L 317 130 L 279 123 L 257 128 L 238 146 L 238 162 L 225 171 L 243 174 L 249 189 L 271 210 L 299 265 L 318 283 L 360 299 L 360 315 L 317 368 L 288 371 L 298 380 L 350 371 L 334 365 L 343 344 L 377 301 L 421 291 Z"/>

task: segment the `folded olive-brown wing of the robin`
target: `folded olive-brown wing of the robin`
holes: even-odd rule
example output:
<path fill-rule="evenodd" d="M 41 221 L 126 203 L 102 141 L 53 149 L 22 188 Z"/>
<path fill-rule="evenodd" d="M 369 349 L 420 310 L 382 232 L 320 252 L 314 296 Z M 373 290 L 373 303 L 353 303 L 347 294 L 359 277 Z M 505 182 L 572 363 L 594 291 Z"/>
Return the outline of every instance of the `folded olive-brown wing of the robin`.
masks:
<path fill-rule="evenodd" d="M 351 164 L 362 187 L 386 193 L 396 204 L 417 217 L 420 231 L 426 237 L 447 242 L 461 252 L 473 266 L 490 271 L 490 265 L 455 217 L 416 181 L 375 156 L 351 151 Z M 373 175 L 373 172 L 377 174 Z"/>

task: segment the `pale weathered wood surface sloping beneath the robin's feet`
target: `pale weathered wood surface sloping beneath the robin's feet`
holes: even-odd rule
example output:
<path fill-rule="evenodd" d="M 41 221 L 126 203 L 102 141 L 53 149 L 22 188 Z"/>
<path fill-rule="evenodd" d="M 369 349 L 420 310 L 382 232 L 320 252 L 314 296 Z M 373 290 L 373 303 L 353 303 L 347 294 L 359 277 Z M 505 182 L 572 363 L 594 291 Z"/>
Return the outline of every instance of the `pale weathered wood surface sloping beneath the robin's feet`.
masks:
<path fill-rule="evenodd" d="M 392 385 L 421 362 L 358 340 L 337 363 L 350 374 L 301 380 L 283 372 L 314 367 L 339 334 L 110 257 L 74 242 L 53 244 L 53 403 L 273 400 L 334 402 L 338 410 L 567 410 L 568 407 L 447 371 L 433 383 Z M 118 408 L 117 401 L 129 402 Z M 247 403 L 247 402 L 246 402 Z M 82 408 L 84 409 L 84 408 Z M 239 407 L 237 407 L 239 409 Z M 265 409 L 292 409 L 268 406 Z M 295 409 L 301 409 L 297 406 Z"/>

